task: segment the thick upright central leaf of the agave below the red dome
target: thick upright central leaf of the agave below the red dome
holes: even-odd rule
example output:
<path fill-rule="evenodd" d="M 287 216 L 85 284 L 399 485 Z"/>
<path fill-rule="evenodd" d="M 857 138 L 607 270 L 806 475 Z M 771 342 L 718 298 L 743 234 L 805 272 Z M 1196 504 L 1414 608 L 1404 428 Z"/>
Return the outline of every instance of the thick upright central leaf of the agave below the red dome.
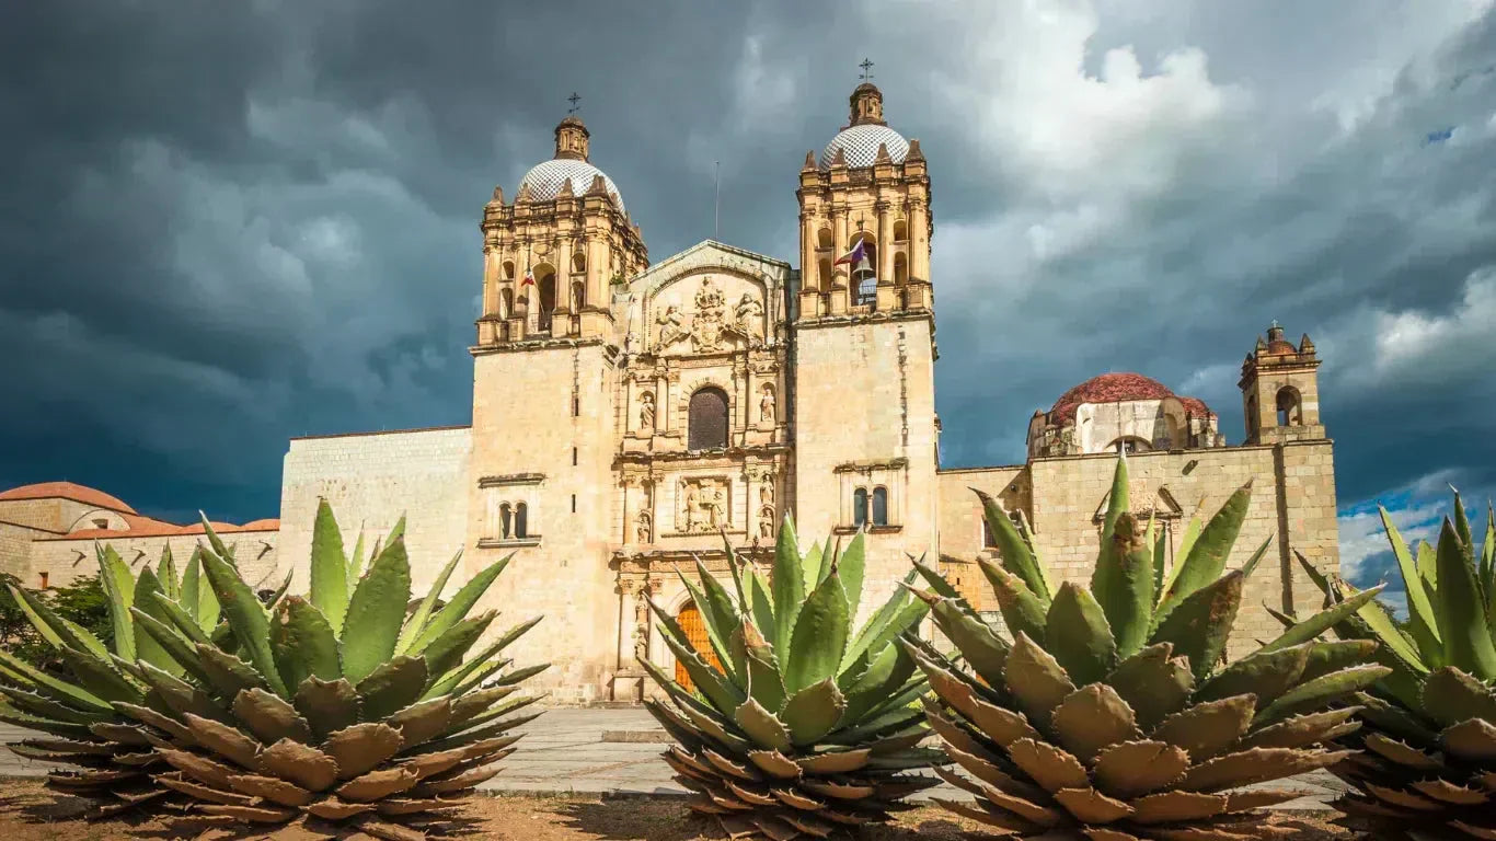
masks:
<path fill-rule="evenodd" d="M 1125 494 L 1126 474 L 1121 467 L 1118 474 Z M 1143 648 L 1153 621 L 1153 549 L 1147 536 L 1137 533 L 1137 521 L 1129 512 L 1119 512 L 1101 540 L 1091 591 L 1116 637 L 1118 654 L 1131 657 Z"/>

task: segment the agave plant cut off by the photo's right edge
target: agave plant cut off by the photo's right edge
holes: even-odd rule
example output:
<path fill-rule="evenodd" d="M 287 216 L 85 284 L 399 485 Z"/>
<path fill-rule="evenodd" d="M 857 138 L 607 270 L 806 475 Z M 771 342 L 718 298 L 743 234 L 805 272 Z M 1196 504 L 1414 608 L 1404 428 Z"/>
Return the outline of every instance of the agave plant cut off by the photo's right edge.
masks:
<path fill-rule="evenodd" d="M 1334 626 L 1340 639 L 1381 642 L 1391 669 L 1357 700 L 1364 727 L 1345 742 L 1364 753 L 1334 771 L 1358 793 L 1337 805 L 1387 829 L 1496 838 L 1496 515 L 1487 510 L 1477 554 L 1456 494 L 1438 548 L 1420 542 L 1417 555 L 1385 509 L 1381 515 L 1408 591 L 1408 623 L 1369 602 Z M 1306 569 L 1328 603 L 1360 600 L 1349 584 Z"/>

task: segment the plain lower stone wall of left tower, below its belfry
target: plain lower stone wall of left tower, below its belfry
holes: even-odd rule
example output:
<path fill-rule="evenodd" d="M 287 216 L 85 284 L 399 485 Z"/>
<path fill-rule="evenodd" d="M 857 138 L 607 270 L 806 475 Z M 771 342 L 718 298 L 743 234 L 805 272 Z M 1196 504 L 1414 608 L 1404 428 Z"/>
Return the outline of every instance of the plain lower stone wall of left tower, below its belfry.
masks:
<path fill-rule="evenodd" d="M 506 654 L 516 664 L 551 663 L 527 684 L 549 690 L 548 703 L 607 697 L 616 667 L 619 597 L 607 561 L 609 534 L 618 531 L 615 380 L 601 343 L 474 359 L 464 567 L 471 576 L 513 552 L 483 606 L 503 611 L 503 629 L 545 615 Z M 527 504 L 525 537 L 503 537 L 491 512 L 504 500 Z"/>

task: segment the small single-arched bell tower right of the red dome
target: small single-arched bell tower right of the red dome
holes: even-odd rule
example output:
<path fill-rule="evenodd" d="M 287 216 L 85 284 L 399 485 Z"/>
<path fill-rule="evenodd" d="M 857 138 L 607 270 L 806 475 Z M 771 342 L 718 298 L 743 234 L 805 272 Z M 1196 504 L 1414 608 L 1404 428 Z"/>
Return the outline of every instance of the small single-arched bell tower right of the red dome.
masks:
<path fill-rule="evenodd" d="M 1319 356 L 1309 334 L 1299 347 L 1284 338 L 1284 328 L 1273 322 L 1267 340 L 1242 361 L 1242 409 L 1246 418 L 1246 443 L 1321 440 Z"/>

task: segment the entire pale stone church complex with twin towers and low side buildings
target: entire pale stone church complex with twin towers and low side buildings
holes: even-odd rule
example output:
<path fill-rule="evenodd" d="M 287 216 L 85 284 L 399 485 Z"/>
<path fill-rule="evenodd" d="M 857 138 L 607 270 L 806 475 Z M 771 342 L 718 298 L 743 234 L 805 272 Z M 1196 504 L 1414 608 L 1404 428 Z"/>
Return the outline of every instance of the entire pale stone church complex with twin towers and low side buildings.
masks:
<path fill-rule="evenodd" d="M 292 440 L 278 530 L 259 524 L 266 549 L 250 569 L 272 581 L 296 567 L 305 585 L 319 497 L 349 543 L 408 513 L 417 591 L 458 549 L 468 575 L 513 554 L 494 606 L 510 621 L 546 615 L 515 655 L 554 663 L 537 681 L 557 702 L 636 700 L 649 691 L 636 657 L 672 666 L 645 599 L 696 627 L 676 569 L 699 555 L 726 575 L 723 531 L 761 563 L 785 515 L 806 545 L 865 530 L 875 591 L 865 609 L 908 572 L 910 555 L 938 560 L 990 609 L 972 561 L 993 546 L 971 488 L 1031 528 L 1056 575 L 1089 578 L 1113 462 L 1126 452 L 1134 510 L 1156 515 L 1171 549 L 1191 515 L 1254 482 L 1233 563 L 1264 540 L 1273 549 L 1249 584 L 1240 642 L 1272 633 L 1263 605 L 1313 602 L 1293 554 L 1327 569 L 1339 555 L 1308 337 L 1296 346 L 1275 323 L 1246 355 L 1242 444 L 1227 446 L 1200 400 L 1110 373 L 1034 413 L 1025 464 L 945 470 L 939 278 L 919 141 L 893 129 L 883 94 L 862 84 L 847 124 L 794 178 L 799 268 L 712 241 L 651 263 L 619 187 L 592 165 L 591 133 L 574 115 L 562 120 L 555 156 L 530 169 L 512 202 L 495 189 L 483 208 L 471 425 Z M 859 242 L 854 259 L 839 259 Z M 37 492 L 0 494 L 0 539 L 19 516 L 6 495 L 33 504 Z M 151 540 L 194 540 L 132 536 L 123 518 L 69 512 L 45 527 L 10 522 L 31 533 L 9 566 L 55 582 L 96 539 L 133 540 L 141 552 Z"/>

